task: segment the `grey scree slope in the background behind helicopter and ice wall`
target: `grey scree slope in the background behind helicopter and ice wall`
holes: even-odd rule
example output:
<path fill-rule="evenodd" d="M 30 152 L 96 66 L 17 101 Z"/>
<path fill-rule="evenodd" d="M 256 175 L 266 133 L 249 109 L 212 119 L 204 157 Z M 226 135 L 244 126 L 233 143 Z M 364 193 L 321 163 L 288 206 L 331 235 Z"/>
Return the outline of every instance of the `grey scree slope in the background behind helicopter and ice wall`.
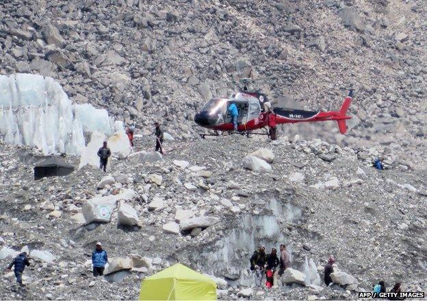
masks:
<path fill-rule="evenodd" d="M 196 109 L 240 77 L 268 77 L 259 86 L 278 105 L 313 109 L 339 107 L 353 85 L 346 139 L 335 125 L 285 129 L 383 144 L 425 168 L 426 13 L 422 0 L 3 1 L 0 72 L 51 76 L 78 103 L 184 139 Z"/>

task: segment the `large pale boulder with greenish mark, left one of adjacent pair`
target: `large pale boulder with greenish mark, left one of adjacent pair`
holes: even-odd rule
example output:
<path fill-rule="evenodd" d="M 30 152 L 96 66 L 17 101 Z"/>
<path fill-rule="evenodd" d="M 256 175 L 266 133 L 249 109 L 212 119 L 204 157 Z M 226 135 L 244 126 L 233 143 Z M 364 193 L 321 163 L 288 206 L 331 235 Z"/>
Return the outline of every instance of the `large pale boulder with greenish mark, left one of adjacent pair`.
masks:
<path fill-rule="evenodd" d="M 91 198 L 81 207 L 81 213 L 90 222 L 109 222 L 116 207 L 116 196 L 101 196 Z"/>

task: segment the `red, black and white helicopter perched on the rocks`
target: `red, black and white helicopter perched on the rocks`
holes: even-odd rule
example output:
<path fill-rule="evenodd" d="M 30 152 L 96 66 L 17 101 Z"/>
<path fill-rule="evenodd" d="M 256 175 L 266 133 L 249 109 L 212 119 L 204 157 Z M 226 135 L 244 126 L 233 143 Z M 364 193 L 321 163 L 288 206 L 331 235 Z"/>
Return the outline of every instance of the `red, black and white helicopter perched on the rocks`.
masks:
<path fill-rule="evenodd" d="M 347 116 L 350 107 L 353 89 L 350 92 L 338 111 L 316 112 L 302 109 L 289 109 L 283 107 L 274 107 L 272 111 L 266 112 L 264 104 L 268 103 L 267 95 L 260 90 L 248 91 L 248 84 L 252 79 L 240 79 L 244 84 L 243 89 L 232 94 L 227 98 L 214 98 L 208 101 L 194 116 L 194 122 L 200 127 L 214 131 L 233 131 L 234 126 L 232 116 L 228 111 L 229 105 L 235 103 L 239 116 L 237 118 L 237 133 L 253 133 L 256 129 L 262 129 L 268 126 L 268 115 L 275 114 L 276 124 L 297 123 L 297 122 L 318 122 L 318 121 L 337 121 L 339 132 L 347 132 L 346 120 L 351 119 Z M 254 133 L 258 135 L 269 135 L 263 133 Z M 216 134 L 200 133 L 202 138 L 205 136 L 217 136 Z"/>

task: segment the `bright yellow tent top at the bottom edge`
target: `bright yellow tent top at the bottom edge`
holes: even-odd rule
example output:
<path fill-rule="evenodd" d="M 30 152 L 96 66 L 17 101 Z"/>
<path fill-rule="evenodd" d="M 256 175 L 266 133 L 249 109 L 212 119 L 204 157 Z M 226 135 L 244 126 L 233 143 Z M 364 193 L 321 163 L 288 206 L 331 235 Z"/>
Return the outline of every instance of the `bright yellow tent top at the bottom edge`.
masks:
<path fill-rule="evenodd" d="M 216 283 L 177 263 L 142 280 L 140 300 L 216 300 Z"/>

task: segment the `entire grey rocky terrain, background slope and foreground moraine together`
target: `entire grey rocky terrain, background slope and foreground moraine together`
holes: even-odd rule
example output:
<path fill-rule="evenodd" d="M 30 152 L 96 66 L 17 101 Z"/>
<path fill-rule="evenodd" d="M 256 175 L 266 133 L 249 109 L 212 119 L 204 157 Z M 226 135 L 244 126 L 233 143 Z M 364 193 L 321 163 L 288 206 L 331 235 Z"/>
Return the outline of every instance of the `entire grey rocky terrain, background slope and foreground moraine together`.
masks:
<path fill-rule="evenodd" d="M 35 258 L 25 289 L 1 274 L 0 299 L 135 299 L 178 261 L 230 300 L 355 299 L 380 279 L 425 291 L 426 13 L 422 0 L 3 1 L 1 74 L 51 76 L 73 101 L 133 120 L 137 150 L 153 148 L 153 120 L 177 141 L 163 159 L 113 161 L 107 178 L 86 167 L 37 182 L 40 153 L 0 142 L 1 267 L 22 248 Z M 349 134 L 326 123 L 282 127 L 274 144 L 198 139 L 196 109 L 240 77 L 262 79 L 275 105 L 313 109 L 339 107 L 353 85 Z M 244 159 L 260 147 L 270 164 Z M 88 221 L 101 196 L 111 218 Z M 120 272 L 92 277 L 96 241 Z M 253 249 L 282 242 L 296 270 L 333 254 L 357 284 L 248 289 Z"/>

